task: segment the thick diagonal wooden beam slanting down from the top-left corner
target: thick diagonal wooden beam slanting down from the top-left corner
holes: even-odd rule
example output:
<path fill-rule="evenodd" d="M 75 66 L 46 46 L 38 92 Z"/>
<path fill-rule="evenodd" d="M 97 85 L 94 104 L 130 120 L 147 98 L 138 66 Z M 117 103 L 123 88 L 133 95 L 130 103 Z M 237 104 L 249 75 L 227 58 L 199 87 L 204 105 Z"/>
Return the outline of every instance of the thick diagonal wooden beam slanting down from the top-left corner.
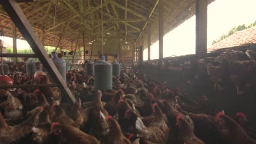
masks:
<path fill-rule="evenodd" d="M 44 46 L 38 39 L 36 33 L 34 33 L 19 4 L 15 0 L 4 0 L 2 6 L 4 10 L 7 11 L 23 37 L 27 40 L 28 44 L 30 44 L 40 62 L 43 63 L 45 69 L 51 76 L 53 76 L 53 79 L 62 91 L 63 98 L 68 98 L 69 102 L 74 103 L 76 101 L 74 95 L 67 87 L 66 81 L 63 80 L 53 61 L 49 58 L 48 53 L 45 51 Z"/>

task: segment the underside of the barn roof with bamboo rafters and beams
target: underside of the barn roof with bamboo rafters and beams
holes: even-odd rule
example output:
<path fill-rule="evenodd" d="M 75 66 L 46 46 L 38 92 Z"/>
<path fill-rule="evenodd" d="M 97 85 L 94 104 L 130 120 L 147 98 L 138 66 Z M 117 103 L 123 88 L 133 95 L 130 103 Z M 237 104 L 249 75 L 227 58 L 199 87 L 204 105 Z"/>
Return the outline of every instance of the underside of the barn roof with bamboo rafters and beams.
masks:
<path fill-rule="evenodd" d="M 195 14 L 195 0 L 163 0 L 164 33 L 170 32 Z M 210 4 L 214 0 L 208 0 Z M 159 0 L 103 0 L 104 39 L 109 45 L 115 39 L 135 44 L 147 34 L 147 23 L 152 25 L 152 43 L 158 40 Z M 57 45 L 62 37 L 62 48 L 71 44 L 86 45 L 101 38 L 101 0 L 37 0 L 20 3 L 28 21 L 45 45 Z M 54 13 L 55 12 L 55 13 Z M 152 13 L 152 15 L 150 15 Z M 56 17 L 54 19 L 54 14 Z M 7 37 L 12 37 L 12 21 L 0 6 L 0 20 Z M 55 21 L 55 22 L 54 22 Z M 64 32 L 64 33 L 63 33 Z M 18 32 L 18 38 L 22 35 Z"/>

